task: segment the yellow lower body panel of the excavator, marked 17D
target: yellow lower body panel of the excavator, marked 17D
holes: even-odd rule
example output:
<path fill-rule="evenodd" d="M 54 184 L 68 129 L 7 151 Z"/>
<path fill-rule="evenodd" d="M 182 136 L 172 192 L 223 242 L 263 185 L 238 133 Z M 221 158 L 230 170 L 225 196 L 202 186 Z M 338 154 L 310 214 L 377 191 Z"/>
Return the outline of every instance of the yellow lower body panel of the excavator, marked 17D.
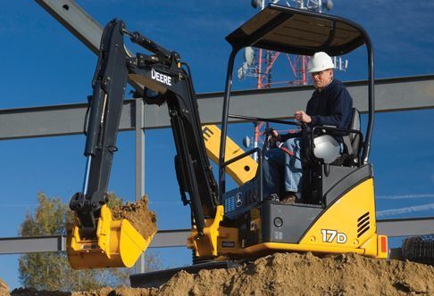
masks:
<path fill-rule="evenodd" d="M 213 256 L 219 260 L 228 257 L 261 256 L 275 251 L 312 251 L 354 252 L 372 258 L 388 258 L 387 236 L 376 233 L 372 178 L 355 186 L 314 220 L 300 243 L 257 243 L 243 248 L 239 245 L 237 228 L 220 226 L 220 222 L 217 227 L 216 222 L 222 220 L 222 213 L 223 206 L 219 206 L 216 219 L 207 220 L 209 227 L 213 229 L 207 230 L 208 227 L 205 227 L 204 230 L 209 235 L 217 235 L 215 239 L 200 239 L 196 229 L 193 229 L 188 238 L 188 247 L 196 250 L 196 256 Z M 259 216 L 254 216 L 251 217 L 252 222 L 257 220 L 255 225 L 260 226 Z M 211 241 L 212 245 L 208 243 Z"/>

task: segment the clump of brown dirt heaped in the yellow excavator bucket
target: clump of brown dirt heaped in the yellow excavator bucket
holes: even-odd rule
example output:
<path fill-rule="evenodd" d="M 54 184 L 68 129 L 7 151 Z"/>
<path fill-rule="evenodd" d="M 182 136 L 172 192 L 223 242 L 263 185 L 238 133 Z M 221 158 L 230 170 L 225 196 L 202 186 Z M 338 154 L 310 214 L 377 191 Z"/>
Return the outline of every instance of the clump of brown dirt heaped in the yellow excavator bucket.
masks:
<path fill-rule="evenodd" d="M 154 211 L 148 209 L 148 203 L 146 195 L 140 201 L 133 203 L 127 201 L 125 205 L 113 208 L 113 219 L 125 218 L 129 220 L 139 234 L 148 238 L 157 230 L 156 215 Z"/>

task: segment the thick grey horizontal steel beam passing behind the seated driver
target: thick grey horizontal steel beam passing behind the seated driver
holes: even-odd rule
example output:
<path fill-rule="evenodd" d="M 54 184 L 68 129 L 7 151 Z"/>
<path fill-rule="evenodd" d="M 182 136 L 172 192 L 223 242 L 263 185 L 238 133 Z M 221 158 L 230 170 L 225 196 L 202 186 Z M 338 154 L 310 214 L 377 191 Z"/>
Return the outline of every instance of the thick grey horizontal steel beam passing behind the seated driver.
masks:
<path fill-rule="evenodd" d="M 359 111 L 366 112 L 366 81 L 346 83 Z M 230 113 L 273 119 L 290 119 L 303 108 L 312 86 L 244 90 L 233 93 Z M 434 108 L 434 75 L 377 80 L 377 111 L 409 111 Z M 221 122 L 222 93 L 197 95 L 203 124 Z M 76 135 L 83 131 L 87 103 L 0 110 L 0 140 L 40 136 Z M 217 110 L 217 112 L 216 112 Z M 167 108 L 146 105 L 141 128 L 170 127 Z M 134 100 L 126 100 L 121 115 L 121 131 L 136 126 Z M 239 122 L 234 120 L 233 122 Z"/>

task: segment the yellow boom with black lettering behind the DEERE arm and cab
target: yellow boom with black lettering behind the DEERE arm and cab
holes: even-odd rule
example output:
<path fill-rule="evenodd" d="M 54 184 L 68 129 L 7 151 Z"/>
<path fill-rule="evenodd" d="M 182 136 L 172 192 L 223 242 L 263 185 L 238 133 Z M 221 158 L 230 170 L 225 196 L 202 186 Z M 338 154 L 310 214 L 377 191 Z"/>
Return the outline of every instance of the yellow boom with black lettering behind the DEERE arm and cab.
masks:
<path fill-rule="evenodd" d="M 215 163 L 219 163 L 221 138 L 220 128 L 213 125 L 203 126 L 202 133 L 204 135 L 204 144 L 208 157 Z M 229 137 L 226 137 L 225 160 L 230 160 L 242 153 L 244 153 L 244 150 L 241 149 L 238 144 L 232 141 Z M 258 164 L 256 161 L 250 156 L 246 156 L 244 159 L 231 163 L 227 167 L 226 171 L 230 177 L 237 182 L 238 185 L 242 185 L 255 177 L 257 167 Z"/>

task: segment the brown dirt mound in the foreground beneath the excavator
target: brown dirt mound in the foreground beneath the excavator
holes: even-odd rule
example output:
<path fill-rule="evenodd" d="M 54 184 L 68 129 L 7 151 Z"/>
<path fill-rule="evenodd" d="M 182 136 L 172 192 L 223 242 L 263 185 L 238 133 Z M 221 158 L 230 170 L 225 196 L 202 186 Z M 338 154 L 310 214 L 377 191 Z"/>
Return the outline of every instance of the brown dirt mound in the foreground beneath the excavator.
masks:
<path fill-rule="evenodd" d="M 185 271 L 158 289 L 104 288 L 98 292 L 38 292 L 29 296 L 114 295 L 434 295 L 434 267 L 355 254 L 319 258 L 277 253 L 234 269 Z"/>

